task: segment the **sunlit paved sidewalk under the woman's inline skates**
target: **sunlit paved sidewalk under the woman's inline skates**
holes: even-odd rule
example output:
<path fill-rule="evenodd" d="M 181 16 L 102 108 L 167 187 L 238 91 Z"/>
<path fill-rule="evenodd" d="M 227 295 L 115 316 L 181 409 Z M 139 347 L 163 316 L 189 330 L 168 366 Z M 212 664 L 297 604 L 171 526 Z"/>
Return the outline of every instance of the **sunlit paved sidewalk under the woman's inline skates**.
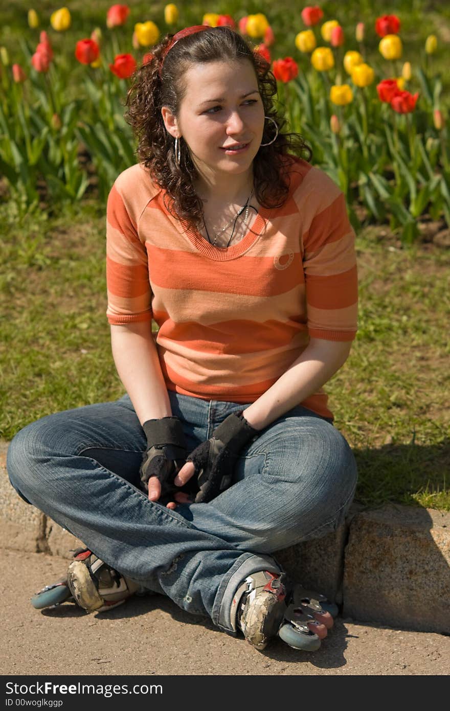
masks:
<path fill-rule="evenodd" d="M 160 595 L 106 613 L 65 603 L 33 609 L 31 594 L 67 561 L 2 550 L 0 673 L 4 675 L 446 675 L 450 637 L 358 624 L 339 617 L 314 653 L 276 640 L 258 652 Z M 7 574 L 6 574 L 7 572 Z M 181 687 L 182 688 L 182 687 Z M 302 692 L 303 693 L 303 692 Z"/>

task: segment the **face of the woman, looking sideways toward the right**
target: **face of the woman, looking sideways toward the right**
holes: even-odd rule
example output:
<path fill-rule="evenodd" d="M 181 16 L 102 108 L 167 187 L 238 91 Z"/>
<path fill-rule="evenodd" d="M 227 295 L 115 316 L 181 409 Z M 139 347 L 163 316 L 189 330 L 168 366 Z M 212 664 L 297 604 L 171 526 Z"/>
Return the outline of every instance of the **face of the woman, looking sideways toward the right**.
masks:
<path fill-rule="evenodd" d="M 200 176 L 249 171 L 264 130 L 264 107 L 251 63 L 195 64 L 183 81 L 186 93 L 170 132 L 186 141 Z"/>

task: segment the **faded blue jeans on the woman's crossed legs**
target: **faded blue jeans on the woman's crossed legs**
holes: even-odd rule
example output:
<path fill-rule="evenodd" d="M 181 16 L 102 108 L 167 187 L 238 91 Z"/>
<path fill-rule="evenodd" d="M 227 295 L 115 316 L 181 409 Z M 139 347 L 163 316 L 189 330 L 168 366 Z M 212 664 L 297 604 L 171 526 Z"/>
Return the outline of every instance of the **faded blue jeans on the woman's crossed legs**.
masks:
<path fill-rule="evenodd" d="M 247 405 L 169 392 L 188 450 Z M 248 403 L 250 405 L 250 403 Z M 210 503 L 170 510 L 139 488 L 146 438 L 129 397 L 49 415 L 18 432 L 7 468 L 16 491 L 102 560 L 193 614 L 232 631 L 230 604 L 270 555 L 335 530 L 356 465 L 333 425 L 294 407 L 242 450 L 233 485 Z"/>

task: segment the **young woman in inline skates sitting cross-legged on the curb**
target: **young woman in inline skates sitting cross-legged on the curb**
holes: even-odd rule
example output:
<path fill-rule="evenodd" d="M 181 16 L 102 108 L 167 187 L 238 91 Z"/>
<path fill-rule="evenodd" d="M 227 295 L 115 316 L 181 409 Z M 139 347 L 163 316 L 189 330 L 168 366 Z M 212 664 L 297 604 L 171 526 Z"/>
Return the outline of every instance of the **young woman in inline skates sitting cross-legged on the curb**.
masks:
<path fill-rule="evenodd" d="M 354 235 L 275 93 L 224 27 L 168 36 L 136 73 L 140 162 L 107 207 L 127 395 L 44 417 L 9 448 L 16 490 L 87 545 L 38 607 L 145 588 L 258 649 L 277 634 L 316 649 L 333 624 L 271 554 L 335 530 L 353 498 L 322 385 L 355 336 Z"/>

